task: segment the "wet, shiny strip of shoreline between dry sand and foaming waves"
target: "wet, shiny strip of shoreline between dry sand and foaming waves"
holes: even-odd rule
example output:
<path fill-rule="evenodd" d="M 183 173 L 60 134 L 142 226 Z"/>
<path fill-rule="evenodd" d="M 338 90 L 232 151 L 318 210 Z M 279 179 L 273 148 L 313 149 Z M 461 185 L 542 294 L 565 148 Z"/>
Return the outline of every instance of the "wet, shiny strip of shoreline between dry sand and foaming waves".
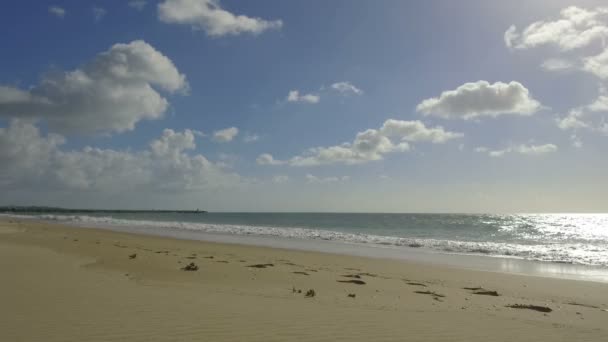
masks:
<path fill-rule="evenodd" d="M 1 220 L 11 216 L 0 216 Z M 445 266 L 463 270 L 498 272 L 524 276 L 572 279 L 608 283 L 608 268 L 594 265 L 570 264 L 555 261 L 530 260 L 502 255 L 441 252 L 429 248 L 388 246 L 379 244 L 302 239 L 280 236 L 244 235 L 230 233 L 197 232 L 187 229 L 166 230 L 148 226 L 104 225 L 93 222 L 61 222 L 36 217 L 15 216 L 15 219 L 32 222 L 65 225 L 84 229 L 101 229 L 113 232 L 160 236 L 187 241 L 203 241 L 231 245 L 257 246 L 284 250 L 319 252 L 334 255 L 350 255 L 376 259 L 400 260 L 428 265 Z"/>

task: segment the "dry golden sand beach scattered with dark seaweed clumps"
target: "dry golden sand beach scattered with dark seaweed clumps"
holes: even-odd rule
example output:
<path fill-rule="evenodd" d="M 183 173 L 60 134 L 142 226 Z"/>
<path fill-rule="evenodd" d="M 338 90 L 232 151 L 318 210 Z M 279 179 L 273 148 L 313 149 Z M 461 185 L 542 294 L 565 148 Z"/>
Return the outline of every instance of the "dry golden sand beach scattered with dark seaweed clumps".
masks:
<path fill-rule="evenodd" d="M 0 274 L 0 341 L 608 340 L 608 284 L 394 260 L 2 219 Z"/>

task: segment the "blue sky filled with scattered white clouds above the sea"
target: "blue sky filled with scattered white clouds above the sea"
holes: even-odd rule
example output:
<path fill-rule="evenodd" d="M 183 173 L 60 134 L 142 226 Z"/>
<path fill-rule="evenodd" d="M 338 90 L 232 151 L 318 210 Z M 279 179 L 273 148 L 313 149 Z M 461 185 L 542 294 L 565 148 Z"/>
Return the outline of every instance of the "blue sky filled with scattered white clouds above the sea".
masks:
<path fill-rule="evenodd" d="M 602 2 L 19 1 L 0 205 L 606 212 Z"/>

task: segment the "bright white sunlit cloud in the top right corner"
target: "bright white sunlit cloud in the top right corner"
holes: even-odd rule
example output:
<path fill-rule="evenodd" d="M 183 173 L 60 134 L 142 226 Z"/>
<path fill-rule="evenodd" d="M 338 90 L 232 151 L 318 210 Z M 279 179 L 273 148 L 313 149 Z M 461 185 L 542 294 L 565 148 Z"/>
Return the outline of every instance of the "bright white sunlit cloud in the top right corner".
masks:
<path fill-rule="evenodd" d="M 608 37 L 608 8 L 592 10 L 575 6 L 561 10 L 560 18 L 536 21 L 518 31 L 511 26 L 504 34 L 509 48 L 528 49 L 541 45 L 554 45 L 567 51 L 588 46 Z"/>

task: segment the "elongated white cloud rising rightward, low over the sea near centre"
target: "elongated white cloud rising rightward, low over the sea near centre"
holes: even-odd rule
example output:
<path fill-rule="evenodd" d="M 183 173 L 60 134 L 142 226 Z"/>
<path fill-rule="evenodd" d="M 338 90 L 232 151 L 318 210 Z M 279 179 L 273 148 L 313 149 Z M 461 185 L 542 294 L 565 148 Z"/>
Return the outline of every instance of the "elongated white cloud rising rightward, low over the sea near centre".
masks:
<path fill-rule="evenodd" d="M 442 127 L 427 128 L 420 121 L 387 120 L 380 129 L 357 133 L 352 143 L 314 147 L 289 160 L 276 160 L 268 153 L 258 157 L 260 165 L 317 166 L 324 164 L 359 164 L 383 159 L 385 154 L 410 150 L 411 142 L 444 143 L 462 137 Z"/>

